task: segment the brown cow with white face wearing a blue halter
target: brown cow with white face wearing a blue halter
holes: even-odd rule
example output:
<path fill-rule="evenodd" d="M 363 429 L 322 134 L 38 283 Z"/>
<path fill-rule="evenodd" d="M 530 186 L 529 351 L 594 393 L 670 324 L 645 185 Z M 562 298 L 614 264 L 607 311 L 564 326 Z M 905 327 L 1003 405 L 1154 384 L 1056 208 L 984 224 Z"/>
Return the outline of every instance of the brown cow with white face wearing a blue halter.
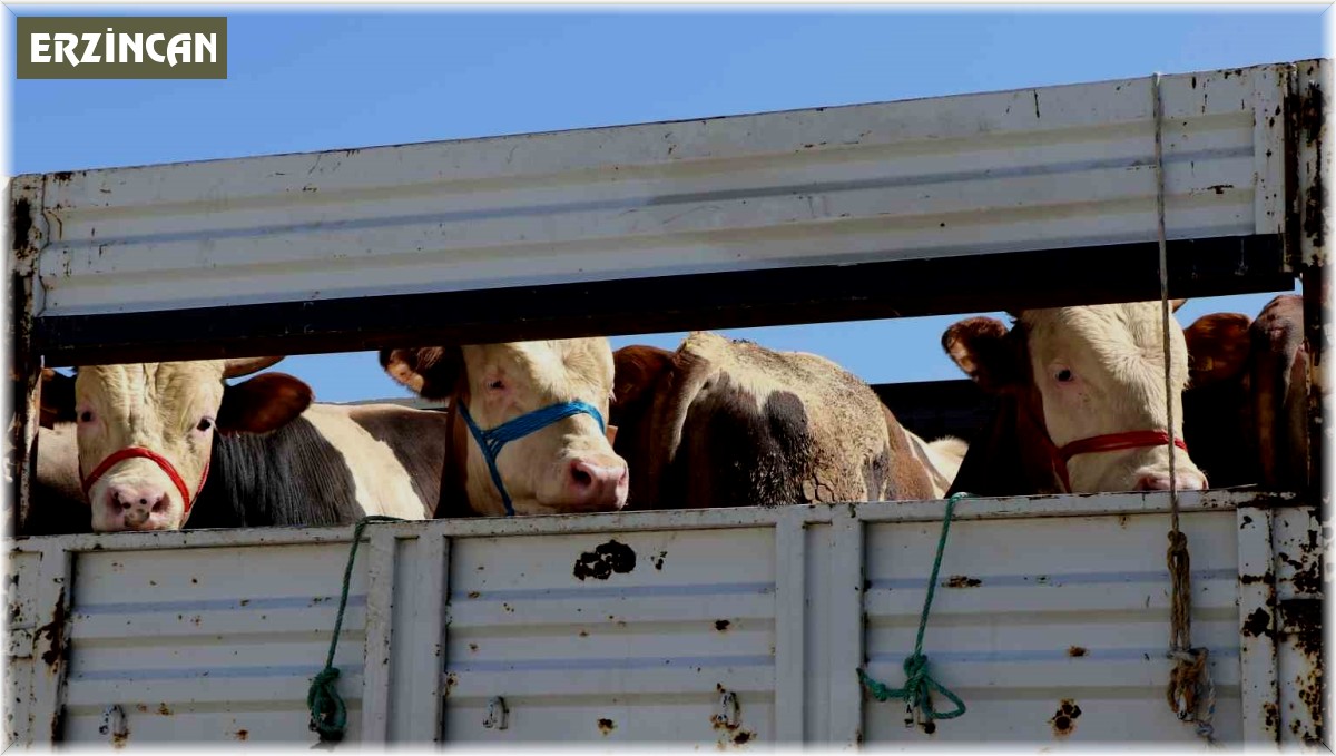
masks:
<path fill-rule="evenodd" d="M 607 425 L 603 338 L 385 349 L 385 371 L 446 402 L 441 516 L 613 512 L 629 471 Z"/>

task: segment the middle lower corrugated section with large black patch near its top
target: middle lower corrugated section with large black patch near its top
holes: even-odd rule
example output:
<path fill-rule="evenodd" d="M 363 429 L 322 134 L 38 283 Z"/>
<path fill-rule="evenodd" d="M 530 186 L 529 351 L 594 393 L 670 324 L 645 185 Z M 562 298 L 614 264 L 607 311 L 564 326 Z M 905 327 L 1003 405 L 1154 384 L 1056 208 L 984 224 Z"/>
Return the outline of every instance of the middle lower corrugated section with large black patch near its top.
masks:
<path fill-rule="evenodd" d="M 450 573 L 450 740 L 774 740 L 770 528 L 461 538 Z"/>

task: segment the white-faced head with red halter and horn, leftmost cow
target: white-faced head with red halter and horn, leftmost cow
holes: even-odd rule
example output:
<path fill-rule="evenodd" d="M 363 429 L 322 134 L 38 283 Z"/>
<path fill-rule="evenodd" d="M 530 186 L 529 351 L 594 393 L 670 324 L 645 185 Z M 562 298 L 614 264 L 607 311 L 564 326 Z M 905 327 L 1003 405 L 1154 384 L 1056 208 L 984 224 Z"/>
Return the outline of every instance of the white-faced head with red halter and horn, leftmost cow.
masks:
<path fill-rule="evenodd" d="M 45 373 L 44 414 L 77 423 L 94 530 L 180 529 L 204 485 L 215 433 L 269 433 L 310 405 L 310 386 L 283 373 L 224 382 L 279 359 L 98 365 L 75 378 Z"/>

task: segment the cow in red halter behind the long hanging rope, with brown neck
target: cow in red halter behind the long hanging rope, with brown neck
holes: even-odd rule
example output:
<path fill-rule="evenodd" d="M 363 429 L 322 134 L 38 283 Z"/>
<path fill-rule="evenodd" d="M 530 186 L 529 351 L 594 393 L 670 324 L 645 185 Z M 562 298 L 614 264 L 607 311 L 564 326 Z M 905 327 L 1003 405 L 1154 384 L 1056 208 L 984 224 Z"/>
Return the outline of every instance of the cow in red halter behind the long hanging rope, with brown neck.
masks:
<path fill-rule="evenodd" d="M 1023 310 L 1014 321 L 1009 330 L 967 318 L 942 334 L 947 355 L 995 399 L 953 493 L 1169 489 L 1170 438 L 1177 488 L 1206 488 L 1182 441 L 1188 349 L 1172 315 L 1168 427 L 1160 302 Z"/>

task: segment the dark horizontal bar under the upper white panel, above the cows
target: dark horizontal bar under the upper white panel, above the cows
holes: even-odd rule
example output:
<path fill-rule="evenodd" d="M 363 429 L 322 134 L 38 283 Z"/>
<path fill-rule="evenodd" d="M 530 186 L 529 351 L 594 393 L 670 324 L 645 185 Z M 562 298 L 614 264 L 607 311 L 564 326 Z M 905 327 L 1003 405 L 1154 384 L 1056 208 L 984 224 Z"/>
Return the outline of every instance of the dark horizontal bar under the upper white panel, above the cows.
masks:
<path fill-rule="evenodd" d="M 48 366 L 361 351 L 1156 299 L 1154 243 L 864 264 L 41 317 Z M 1108 264 L 1106 264 L 1108 263 Z M 1279 235 L 1169 244 L 1170 295 L 1293 289 Z M 1149 274 L 1146 271 L 1150 271 Z M 1007 280 L 999 287 L 998 280 Z M 689 293 L 685 295 L 684 293 Z"/>

